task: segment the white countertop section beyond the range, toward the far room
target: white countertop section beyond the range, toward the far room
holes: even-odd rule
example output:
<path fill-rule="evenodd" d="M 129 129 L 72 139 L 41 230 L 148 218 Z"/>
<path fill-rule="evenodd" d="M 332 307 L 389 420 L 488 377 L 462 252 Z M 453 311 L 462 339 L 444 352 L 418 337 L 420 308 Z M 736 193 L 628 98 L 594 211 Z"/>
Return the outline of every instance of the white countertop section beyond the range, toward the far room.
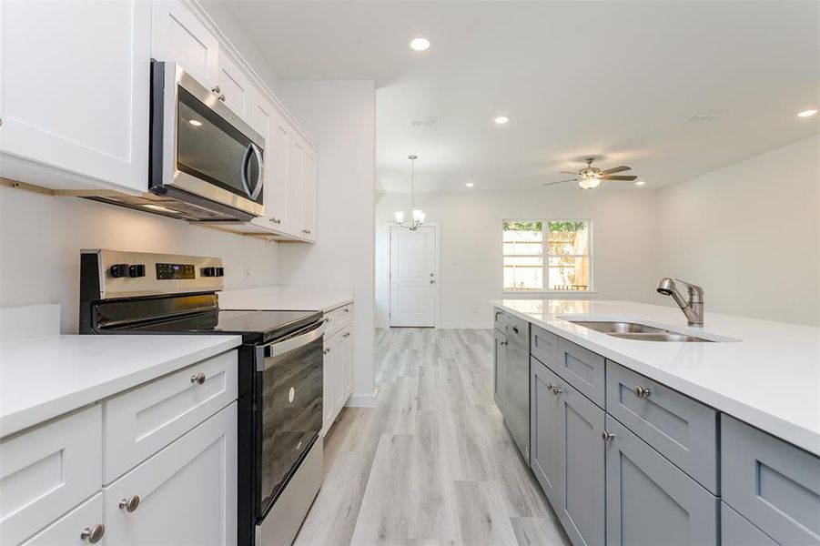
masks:
<path fill-rule="evenodd" d="M 352 303 L 353 287 L 287 286 L 219 292 L 219 308 L 322 311 Z"/>

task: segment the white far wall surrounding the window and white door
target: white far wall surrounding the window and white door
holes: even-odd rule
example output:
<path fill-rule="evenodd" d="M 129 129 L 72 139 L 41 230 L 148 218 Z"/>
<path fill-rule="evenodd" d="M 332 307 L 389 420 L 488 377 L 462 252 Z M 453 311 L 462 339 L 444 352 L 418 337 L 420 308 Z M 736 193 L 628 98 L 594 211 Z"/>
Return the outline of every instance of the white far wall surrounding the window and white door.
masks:
<path fill-rule="evenodd" d="M 501 221 L 504 218 L 592 218 L 593 298 L 653 298 L 656 192 L 577 188 L 420 194 L 427 221 L 440 223 L 441 328 L 489 327 L 487 301 L 501 296 Z M 376 204 L 376 324 L 389 324 L 393 212 L 409 214 L 410 195 L 380 194 Z M 505 296 L 506 297 L 506 296 Z M 526 296 L 525 296 L 526 297 Z"/>

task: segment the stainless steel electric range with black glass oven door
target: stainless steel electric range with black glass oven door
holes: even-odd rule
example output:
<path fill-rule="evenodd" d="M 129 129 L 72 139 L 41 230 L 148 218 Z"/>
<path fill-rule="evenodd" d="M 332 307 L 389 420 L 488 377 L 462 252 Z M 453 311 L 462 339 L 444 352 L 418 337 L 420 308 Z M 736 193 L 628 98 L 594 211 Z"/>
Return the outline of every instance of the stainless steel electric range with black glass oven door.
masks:
<path fill-rule="evenodd" d="M 220 258 L 83 250 L 82 334 L 236 334 L 238 539 L 290 544 L 322 480 L 322 344 L 313 311 L 218 308 Z"/>

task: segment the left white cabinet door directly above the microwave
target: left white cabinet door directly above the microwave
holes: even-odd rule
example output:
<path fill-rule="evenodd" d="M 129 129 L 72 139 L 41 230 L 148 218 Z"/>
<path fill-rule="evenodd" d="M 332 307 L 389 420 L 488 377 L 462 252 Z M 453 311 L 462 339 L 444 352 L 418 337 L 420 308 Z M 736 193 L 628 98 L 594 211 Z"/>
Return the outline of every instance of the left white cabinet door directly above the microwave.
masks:
<path fill-rule="evenodd" d="M 208 89 L 218 86 L 219 43 L 216 36 L 178 2 L 155 0 L 150 4 L 153 14 L 151 56 L 157 61 L 177 63 Z"/>

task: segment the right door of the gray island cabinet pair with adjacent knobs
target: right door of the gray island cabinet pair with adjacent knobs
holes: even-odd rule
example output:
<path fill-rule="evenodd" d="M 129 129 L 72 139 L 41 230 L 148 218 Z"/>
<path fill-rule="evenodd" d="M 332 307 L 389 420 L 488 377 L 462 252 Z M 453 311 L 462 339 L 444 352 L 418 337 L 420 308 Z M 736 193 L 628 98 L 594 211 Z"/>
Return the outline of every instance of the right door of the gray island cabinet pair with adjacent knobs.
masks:
<path fill-rule="evenodd" d="M 553 508 L 575 546 L 603 544 L 603 410 L 556 378 L 561 491 Z"/>

